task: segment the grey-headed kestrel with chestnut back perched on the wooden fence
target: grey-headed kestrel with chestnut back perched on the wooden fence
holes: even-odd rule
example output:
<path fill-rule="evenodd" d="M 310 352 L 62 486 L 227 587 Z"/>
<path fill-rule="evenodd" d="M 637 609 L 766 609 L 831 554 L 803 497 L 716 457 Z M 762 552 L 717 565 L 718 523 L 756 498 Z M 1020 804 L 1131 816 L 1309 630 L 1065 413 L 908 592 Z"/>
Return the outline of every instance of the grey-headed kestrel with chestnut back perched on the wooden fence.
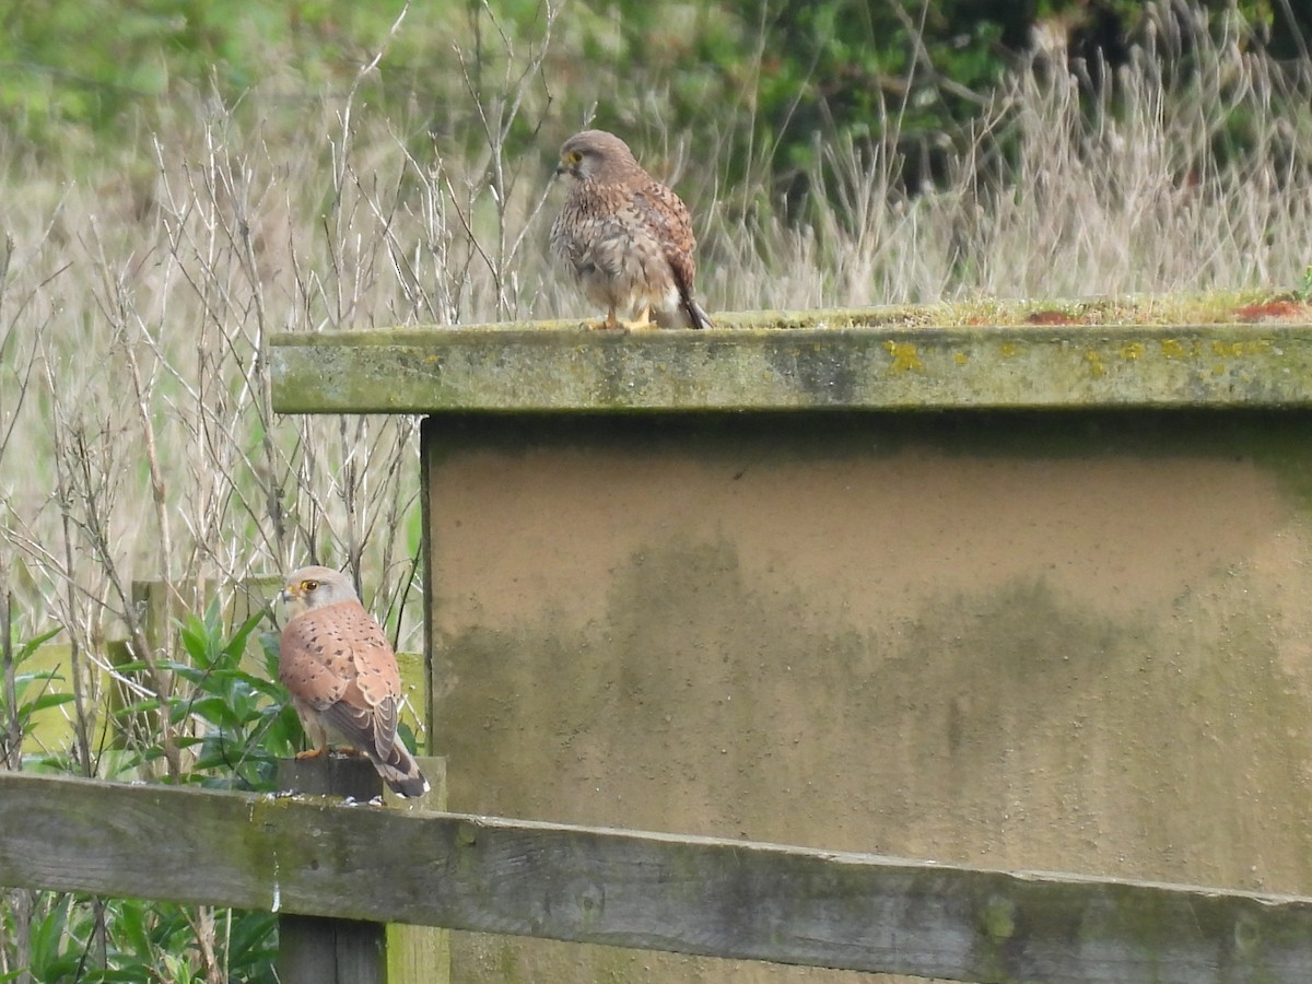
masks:
<path fill-rule="evenodd" d="M 395 792 L 428 792 L 428 779 L 396 736 L 396 655 L 350 580 L 331 567 L 303 567 L 287 579 L 282 598 L 289 619 L 278 646 L 278 678 L 315 745 L 298 758 L 323 754 L 329 735 L 338 735 L 369 756 Z"/>

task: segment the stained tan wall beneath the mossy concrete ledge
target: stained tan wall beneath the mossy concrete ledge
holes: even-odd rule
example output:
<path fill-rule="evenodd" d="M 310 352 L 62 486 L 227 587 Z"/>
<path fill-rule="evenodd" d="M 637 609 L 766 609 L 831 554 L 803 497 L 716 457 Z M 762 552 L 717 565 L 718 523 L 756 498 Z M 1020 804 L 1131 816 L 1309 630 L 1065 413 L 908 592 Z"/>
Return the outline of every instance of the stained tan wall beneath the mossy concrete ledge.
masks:
<path fill-rule="evenodd" d="M 432 417 L 450 806 L 1312 892 L 1309 433 Z M 858 977 L 457 934 L 453 979 Z"/>

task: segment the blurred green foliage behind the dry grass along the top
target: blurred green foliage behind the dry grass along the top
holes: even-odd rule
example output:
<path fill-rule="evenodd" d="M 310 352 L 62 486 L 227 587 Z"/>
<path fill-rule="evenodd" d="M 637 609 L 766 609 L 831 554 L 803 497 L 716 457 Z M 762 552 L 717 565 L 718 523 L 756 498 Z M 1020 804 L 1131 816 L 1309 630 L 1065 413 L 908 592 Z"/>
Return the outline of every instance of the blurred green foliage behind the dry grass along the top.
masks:
<path fill-rule="evenodd" d="M 1241 22 L 1245 46 L 1307 58 L 1312 7 L 1292 0 L 1168 4 Z M 293 0 L 16 0 L 0 14 L 0 127 L 8 159 L 168 126 L 195 98 L 295 118 L 345 93 L 388 38 L 399 3 Z M 896 119 L 904 181 L 942 177 L 1004 76 L 1035 56 L 1115 97 L 1115 77 L 1147 47 L 1186 73 L 1193 50 L 1158 45 L 1157 5 L 1139 0 L 723 0 L 606 4 L 424 0 L 408 8 L 362 101 L 419 139 L 468 139 L 480 92 L 506 62 L 546 45 L 539 91 L 550 118 L 521 114 L 513 156 L 548 160 L 585 118 L 635 144 L 676 134 L 712 148 L 723 185 L 769 176 L 795 199 L 816 138 L 882 136 Z M 1231 28 L 1232 29 L 1232 28 Z M 1242 146 L 1245 121 L 1227 139 Z M 539 133 L 547 131 L 543 140 Z M 1001 140 L 1001 150 L 1008 150 Z M 451 150 L 447 147 L 447 150 Z M 464 147 L 472 151 L 471 147 Z"/>

